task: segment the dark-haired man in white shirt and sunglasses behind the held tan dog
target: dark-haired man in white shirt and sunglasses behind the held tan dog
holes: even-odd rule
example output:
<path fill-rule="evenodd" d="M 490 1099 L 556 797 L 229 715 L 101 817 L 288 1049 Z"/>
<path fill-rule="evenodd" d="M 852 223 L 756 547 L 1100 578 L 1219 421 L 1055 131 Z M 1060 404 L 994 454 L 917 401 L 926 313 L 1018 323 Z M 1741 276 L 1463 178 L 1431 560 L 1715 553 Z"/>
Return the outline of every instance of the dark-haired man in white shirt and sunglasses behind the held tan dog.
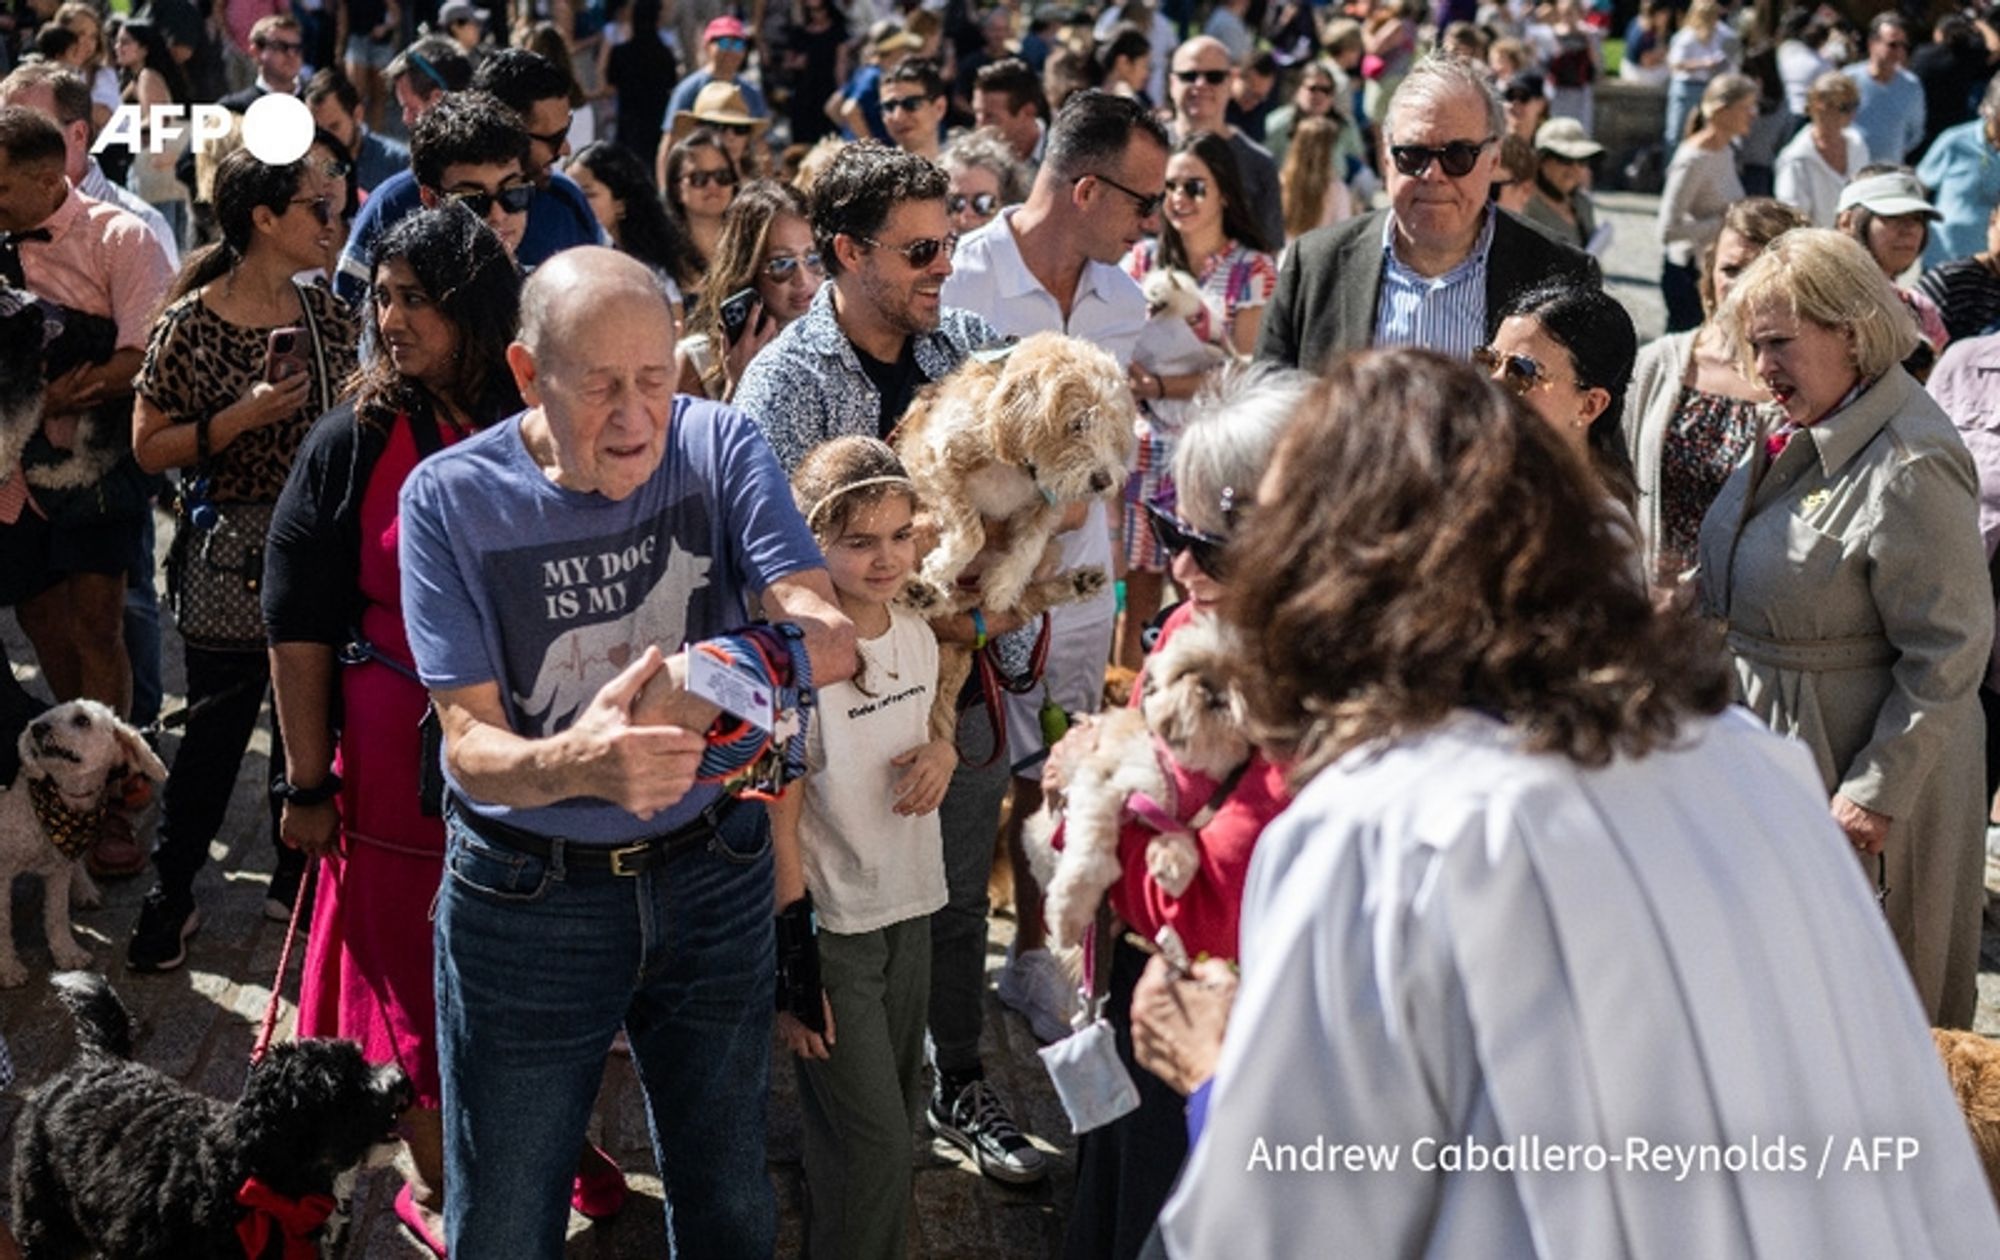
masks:
<path fill-rule="evenodd" d="M 952 276 L 944 282 L 944 302 L 978 312 L 1008 336 L 1066 332 L 1108 350 L 1130 366 L 1146 326 L 1146 298 L 1118 266 L 1130 248 L 1158 230 L 1162 186 L 1166 182 L 1168 136 L 1138 102 L 1108 92 L 1078 92 L 1056 114 L 1048 150 L 1026 204 L 974 232 L 958 248 Z M 1112 568 L 1112 540 L 1106 510 L 1094 506 L 1082 528 L 1062 536 L 1062 568 L 1086 564 Z M 1094 712 L 1104 690 L 1110 660 L 1114 598 L 1106 592 L 1088 604 L 1058 608 L 1050 618 L 1050 654 L 1044 672 L 1046 696 L 1068 712 Z M 1016 770 L 1014 818 L 1040 806 L 1042 726 L 1038 708 L 1044 688 L 1008 700 L 1008 760 Z M 960 770 L 968 774 L 968 770 Z M 956 782 L 954 782 L 956 790 Z M 992 798 L 998 808 L 998 796 Z M 948 800 L 948 806 L 952 802 Z M 966 850 L 986 844 L 986 818 L 954 826 L 946 818 L 946 870 L 954 840 Z M 1000 974 L 1000 1000 L 1030 1018 L 1036 1036 L 1054 1040 L 1068 1032 L 1072 986 L 1042 946 L 1042 894 L 1028 874 L 1020 850 L 1018 822 L 1008 832 L 1014 862 L 1016 952 Z M 984 898 L 986 872 L 978 868 L 976 896 Z M 968 892 L 968 896 L 974 896 Z M 960 898 L 952 886 L 954 904 Z M 936 998 L 950 982 L 948 948 L 932 938 L 932 1038 L 944 1046 Z M 948 1008 L 944 1008 L 948 1010 Z M 976 1030 L 974 1030 L 976 1032 Z"/>

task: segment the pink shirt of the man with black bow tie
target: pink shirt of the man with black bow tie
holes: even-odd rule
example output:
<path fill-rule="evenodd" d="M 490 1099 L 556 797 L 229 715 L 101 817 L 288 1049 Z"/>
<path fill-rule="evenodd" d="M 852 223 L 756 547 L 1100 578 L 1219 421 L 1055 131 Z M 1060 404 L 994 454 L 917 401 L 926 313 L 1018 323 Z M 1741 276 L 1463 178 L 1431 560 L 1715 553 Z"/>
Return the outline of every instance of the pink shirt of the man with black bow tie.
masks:
<path fill-rule="evenodd" d="M 50 238 L 20 246 L 28 292 L 108 316 L 118 324 L 120 350 L 144 350 L 152 312 L 174 282 L 166 250 L 146 222 L 70 188 L 56 212 L 36 226 L 48 228 Z"/>

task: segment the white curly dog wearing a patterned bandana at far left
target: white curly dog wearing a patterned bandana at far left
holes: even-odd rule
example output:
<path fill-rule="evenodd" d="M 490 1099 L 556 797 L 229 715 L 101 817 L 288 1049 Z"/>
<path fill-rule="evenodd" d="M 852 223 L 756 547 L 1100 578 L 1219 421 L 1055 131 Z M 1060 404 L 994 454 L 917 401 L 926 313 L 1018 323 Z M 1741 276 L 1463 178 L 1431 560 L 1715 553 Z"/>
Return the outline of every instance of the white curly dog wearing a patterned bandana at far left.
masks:
<path fill-rule="evenodd" d="M 20 774 L 0 792 L 0 988 L 20 988 L 28 968 L 14 952 L 14 876 L 42 876 L 42 928 L 56 966 L 90 966 L 70 934 L 70 906 L 96 906 L 84 852 L 106 810 L 122 808 L 124 782 L 166 782 L 166 766 L 136 730 L 96 700 L 70 700 L 20 732 Z"/>

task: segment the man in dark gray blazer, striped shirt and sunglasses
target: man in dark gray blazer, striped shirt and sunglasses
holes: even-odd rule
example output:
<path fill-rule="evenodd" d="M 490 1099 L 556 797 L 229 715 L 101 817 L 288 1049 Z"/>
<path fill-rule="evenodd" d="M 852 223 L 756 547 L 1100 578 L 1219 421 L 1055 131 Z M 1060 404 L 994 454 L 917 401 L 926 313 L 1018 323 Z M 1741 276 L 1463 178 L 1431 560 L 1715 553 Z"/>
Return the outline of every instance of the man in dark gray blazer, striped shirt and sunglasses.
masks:
<path fill-rule="evenodd" d="M 1588 254 L 1488 204 L 1504 130 L 1484 66 L 1412 68 L 1382 128 L 1390 208 L 1298 238 L 1256 356 L 1306 370 L 1366 346 L 1468 358 L 1512 296 L 1550 278 L 1600 284 Z"/>

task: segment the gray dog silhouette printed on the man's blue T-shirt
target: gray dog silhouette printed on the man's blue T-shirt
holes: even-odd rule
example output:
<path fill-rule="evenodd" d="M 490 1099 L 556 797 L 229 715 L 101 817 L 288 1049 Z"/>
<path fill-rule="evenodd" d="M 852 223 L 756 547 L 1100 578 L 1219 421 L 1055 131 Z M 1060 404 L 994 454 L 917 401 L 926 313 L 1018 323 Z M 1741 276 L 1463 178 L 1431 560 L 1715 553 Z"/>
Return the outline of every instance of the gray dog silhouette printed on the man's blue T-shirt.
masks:
<path fill-rule="evenodd" d="M 646 644 L 676 652 L 688 634 L 688 600 L 708 586 L 708 556 L 696 556 L 668 542 L 666 564 L 652 590 L 626 616 L 570 626 L 542 652 L 542 668 L 534 674 L 534 690 L 514 692 L 514 704 L 530 726 L 556 732 L 584 712 L 590 698 L 626 668 Z"/>

